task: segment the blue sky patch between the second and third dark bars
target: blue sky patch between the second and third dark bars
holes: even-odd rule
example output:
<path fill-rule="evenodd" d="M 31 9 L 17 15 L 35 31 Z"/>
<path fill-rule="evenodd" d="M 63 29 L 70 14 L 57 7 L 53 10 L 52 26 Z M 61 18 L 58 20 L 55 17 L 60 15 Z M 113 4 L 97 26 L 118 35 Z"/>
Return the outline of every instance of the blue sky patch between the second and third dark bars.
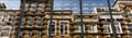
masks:
<path fill-rule="evenodd" d="M 72 10 L 79 13 L 79 0 L 55 0 L 54 10 Z"/>

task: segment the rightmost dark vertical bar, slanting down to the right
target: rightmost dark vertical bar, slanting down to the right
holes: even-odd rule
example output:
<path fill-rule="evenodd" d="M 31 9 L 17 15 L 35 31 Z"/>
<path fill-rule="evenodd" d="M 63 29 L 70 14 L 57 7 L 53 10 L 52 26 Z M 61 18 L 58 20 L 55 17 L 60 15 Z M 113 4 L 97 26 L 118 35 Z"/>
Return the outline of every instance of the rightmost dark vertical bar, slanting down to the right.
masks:
<path fill-rule="evenodd" d="M 117 38 L 117 31 L 116 31 L 116 27 L 114 27 L 114 23 L 112 21 L 112 12 L 111 12 L 111 5 L 110 5 L 110 0 L 107 0 L 108 1 L 108 8 L 109 8 L 109 14 L 110 14 L 110 23 L 111 23 L 111 26 L 112 26 L 112 35 L 113 35 L 113 38 Z M 111 37 L 112 38 L 112 37 Z"/>

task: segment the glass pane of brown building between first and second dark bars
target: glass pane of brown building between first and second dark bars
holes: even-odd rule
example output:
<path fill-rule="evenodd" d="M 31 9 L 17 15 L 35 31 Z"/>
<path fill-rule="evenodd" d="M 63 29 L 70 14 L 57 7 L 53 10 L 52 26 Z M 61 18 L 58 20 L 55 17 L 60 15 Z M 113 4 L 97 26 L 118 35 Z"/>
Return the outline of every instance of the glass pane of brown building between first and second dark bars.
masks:
<path fill-rule="evenodd" d="M 23 10 L 24 15 L 21 22 L 21 38 L 48 37 L 48 21 L 44 21 L 45 0 L 21 0 L 21 3 L 22 2 L 25 2 L 25 7 Z"/>

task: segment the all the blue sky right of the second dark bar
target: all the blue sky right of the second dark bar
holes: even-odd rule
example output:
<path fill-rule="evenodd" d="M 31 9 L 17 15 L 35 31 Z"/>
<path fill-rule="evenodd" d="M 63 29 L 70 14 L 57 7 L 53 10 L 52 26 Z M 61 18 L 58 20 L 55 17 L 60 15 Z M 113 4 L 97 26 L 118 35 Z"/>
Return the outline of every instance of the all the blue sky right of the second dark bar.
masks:
<path fill-rule="evenodd" d="M 114 0 L 110 1 L 112 5 Z M 108 8 L 107 0 L 82 0 L 84 13 L 91 13 L 97 7 Z M 73 13 L 79 13 L 79 0 L 55 0 L 54 10 L 72 10 Z"/>

